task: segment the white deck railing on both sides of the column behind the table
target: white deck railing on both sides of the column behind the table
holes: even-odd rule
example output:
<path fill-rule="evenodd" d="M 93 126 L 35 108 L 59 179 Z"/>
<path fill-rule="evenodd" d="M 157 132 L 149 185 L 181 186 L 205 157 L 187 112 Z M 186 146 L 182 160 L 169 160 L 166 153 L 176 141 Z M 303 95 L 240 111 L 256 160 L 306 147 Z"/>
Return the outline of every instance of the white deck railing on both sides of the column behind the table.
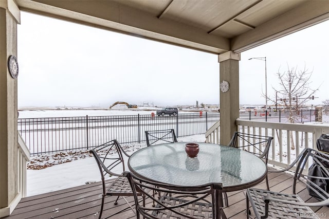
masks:
<path fill-rule="evenodd" d="M 268 163 L 287 167 L 304 148 L 316 148 L 321 134 L 329 134 L 329 125 L 259 122 L 237 119 L 237 130 L 243 133 L 272 136 Z M 220 125 L 215 123 L 206 133 L 206 142 L 220 142 Z M 294 148 L 294 149 L 292 149 Z"/>

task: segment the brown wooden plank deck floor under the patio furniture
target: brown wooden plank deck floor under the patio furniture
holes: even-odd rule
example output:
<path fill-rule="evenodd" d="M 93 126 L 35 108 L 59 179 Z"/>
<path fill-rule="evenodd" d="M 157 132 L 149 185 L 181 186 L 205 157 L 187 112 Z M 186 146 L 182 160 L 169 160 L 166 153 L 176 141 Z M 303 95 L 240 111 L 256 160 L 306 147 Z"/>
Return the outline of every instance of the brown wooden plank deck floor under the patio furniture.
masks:
<path fill-rule="evenodd" d="M 292 193 L 293 178 L 289 174 L 270 173 L 269 185 L 271 191 Z M 257 186 L 266 189 L 265 182 Z M 101 204 L 101 184 L 94 184 L 69 188 L 65 190 L 45 193 L 23 198 L 13 213 L 5 217 L 7 219 L 23 218 L 98 218 L 98 211 Z M 305 188 L 297 186 L 298 194 L 306 202 L 313 202 Z M 246 200 L 243 191 L 228 193 L 229 207 L 224 209 L 228 218 L 246 218 Z M 118 205 L 114 205 L 116 197 L 105 198 L 103 216 L 111 215 L 114 212 L 125 209 L 128 205 L 122 197 Z M 133 197 L 127 197 L 127 200 L 134 205 Z M 329 215 L 329 207 L 313 208 L 316 213 L 324 215 L 320 218 L 326 218 Z M 120 214 L 111 218 L 129 219 L 136 218 L 131 209 L 126 209 Z"/>

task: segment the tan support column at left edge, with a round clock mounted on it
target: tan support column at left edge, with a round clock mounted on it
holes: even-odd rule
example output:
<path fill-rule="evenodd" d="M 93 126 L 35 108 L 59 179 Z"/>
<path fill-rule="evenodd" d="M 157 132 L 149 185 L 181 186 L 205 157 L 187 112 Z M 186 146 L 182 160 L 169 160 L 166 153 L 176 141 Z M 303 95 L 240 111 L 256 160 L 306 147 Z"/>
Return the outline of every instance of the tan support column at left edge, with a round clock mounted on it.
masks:
<path fill-rule="evenodd" d="M 9 215 L 21 199 L 17 173 L 17 79 L 8 71 L 17 57 L 20 9 L 13 0 L 0 1 L 0 217 Z"/>

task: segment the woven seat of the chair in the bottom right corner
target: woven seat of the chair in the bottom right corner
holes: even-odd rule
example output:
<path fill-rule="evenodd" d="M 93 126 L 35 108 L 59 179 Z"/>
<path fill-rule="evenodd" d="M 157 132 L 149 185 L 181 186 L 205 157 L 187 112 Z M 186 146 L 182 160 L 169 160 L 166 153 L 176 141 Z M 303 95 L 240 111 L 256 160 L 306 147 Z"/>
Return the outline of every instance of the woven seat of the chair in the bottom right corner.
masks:
<path fill-rule="evenodd" d="M 256 218 L 261 218 L 265 214 L 264 198 L 266 196 L 296 202 L 296 205 L 294 205 L 270 201 L 268 218 L 318 218 L 308 206 L 298 205 L 298 203 L 304 203 L 304 201 L 296 194 L 284 194 L 251 188 L 247 189 L 247 195 Z"/>

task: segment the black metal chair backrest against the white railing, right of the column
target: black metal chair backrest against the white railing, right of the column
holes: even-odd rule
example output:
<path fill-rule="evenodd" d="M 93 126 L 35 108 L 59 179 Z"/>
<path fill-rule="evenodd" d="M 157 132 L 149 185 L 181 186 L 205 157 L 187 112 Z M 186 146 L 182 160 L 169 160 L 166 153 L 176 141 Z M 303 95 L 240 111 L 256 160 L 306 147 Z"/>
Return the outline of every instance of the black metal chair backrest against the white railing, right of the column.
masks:
<path fill-rule="evenodd" d="M 268 151 L 273 137 L 235 132 L 228 146 L 246 150 L 268 160 Z"/>

